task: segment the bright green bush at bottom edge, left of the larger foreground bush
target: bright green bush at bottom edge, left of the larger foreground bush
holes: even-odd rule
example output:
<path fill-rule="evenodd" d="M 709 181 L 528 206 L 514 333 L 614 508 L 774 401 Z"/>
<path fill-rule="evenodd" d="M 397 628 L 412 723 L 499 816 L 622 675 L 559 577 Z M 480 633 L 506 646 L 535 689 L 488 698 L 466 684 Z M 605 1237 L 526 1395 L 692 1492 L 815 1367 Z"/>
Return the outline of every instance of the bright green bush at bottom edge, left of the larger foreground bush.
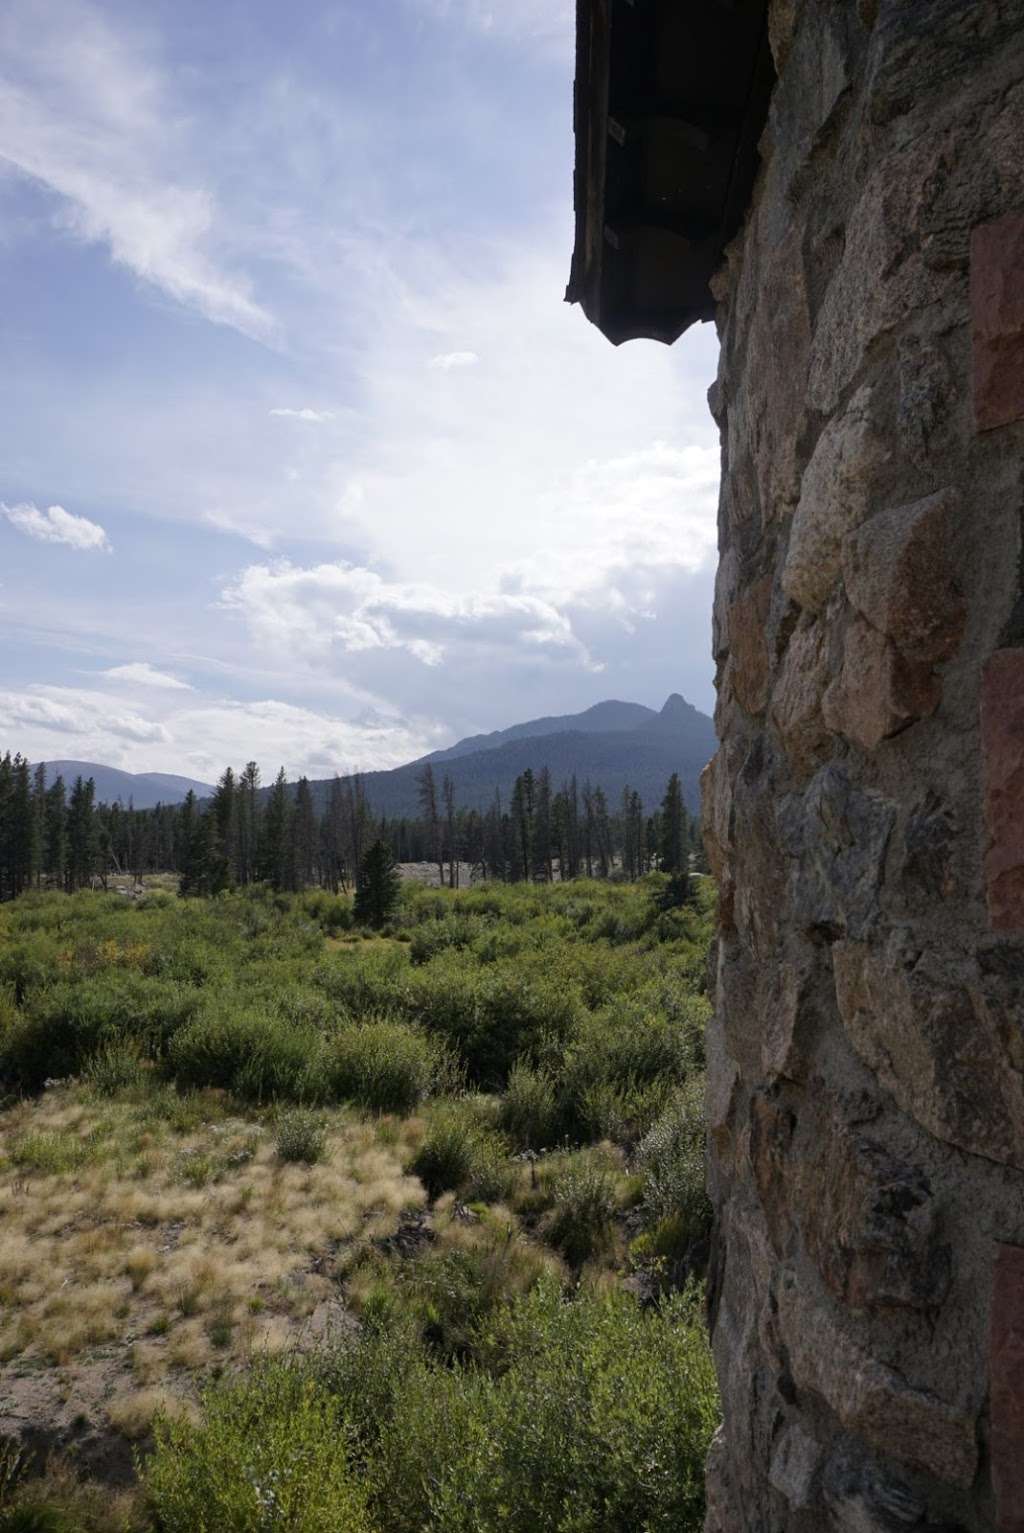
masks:
<path fill-rule="evenodd" d="M 369 1533 L 337 1400 L 268 1363 L 207 1389 L 202 1420 L 156 1418 L 143 1484 L 161 1533 Z"/>

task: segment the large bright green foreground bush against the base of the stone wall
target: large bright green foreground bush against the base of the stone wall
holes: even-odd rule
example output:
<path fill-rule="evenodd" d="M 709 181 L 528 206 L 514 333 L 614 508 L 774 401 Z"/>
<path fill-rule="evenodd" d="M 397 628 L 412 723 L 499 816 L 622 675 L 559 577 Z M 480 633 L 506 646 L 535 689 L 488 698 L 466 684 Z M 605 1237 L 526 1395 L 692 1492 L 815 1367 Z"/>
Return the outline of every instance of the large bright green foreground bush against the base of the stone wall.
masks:
<path fill-rule="evenodd" d="M 696 1294 L 541 1282 L 478 1346 L 483 1367 L 440 1366 L 371 1328 L 331 1371 L 382 1533 L 699 1533 L 717 1397 Z"/>

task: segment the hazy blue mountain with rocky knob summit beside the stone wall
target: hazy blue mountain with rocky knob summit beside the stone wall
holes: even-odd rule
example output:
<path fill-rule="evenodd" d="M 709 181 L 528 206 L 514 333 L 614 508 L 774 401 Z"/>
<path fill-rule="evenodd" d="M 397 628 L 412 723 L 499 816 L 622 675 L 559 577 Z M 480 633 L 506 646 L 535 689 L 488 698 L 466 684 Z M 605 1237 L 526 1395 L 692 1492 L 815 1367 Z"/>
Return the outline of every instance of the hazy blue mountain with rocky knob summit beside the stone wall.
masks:
<path fill-rule="evenodd" d="M 415 817 L 420 812 L 417 783 L 428 762 L 434 766 L 438 789 L 448 774 L 455 786 L 455 802 L 466 809 L 486 809 L 495 791 L 507 805 L 520 773 L 527 766 L 533 771 L 547 766 L 555 788 L 575 773 L 581 788 L 586 780 L 604 788 L 613 808 L 629 785 L 653 809 L 661 803 L 670 776 L 678 771 L 687 805 L 696 811 L 697 779 L 714 750 L 711 719 L 673 693 L 661 713 L 635 702 L 599 702 L 581 714 L 533 719 L 494 734 L 472 736 L 406 766 L 363 773 L 362 785 L 376 814 Z M 317 809 L 322 809 L 330 782 L 310 786 Z"/>

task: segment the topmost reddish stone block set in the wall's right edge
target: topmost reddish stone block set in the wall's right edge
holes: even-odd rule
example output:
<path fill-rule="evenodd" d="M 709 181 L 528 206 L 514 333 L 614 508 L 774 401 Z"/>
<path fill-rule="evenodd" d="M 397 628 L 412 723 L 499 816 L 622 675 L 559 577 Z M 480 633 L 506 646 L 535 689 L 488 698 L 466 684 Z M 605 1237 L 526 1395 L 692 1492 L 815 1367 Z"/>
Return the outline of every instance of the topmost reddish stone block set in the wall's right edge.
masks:
<path fill-rule="evenodd" d="M 1024 420 L 1024 213 L 972 230 L 970 322 L 978 431 Z"/>

